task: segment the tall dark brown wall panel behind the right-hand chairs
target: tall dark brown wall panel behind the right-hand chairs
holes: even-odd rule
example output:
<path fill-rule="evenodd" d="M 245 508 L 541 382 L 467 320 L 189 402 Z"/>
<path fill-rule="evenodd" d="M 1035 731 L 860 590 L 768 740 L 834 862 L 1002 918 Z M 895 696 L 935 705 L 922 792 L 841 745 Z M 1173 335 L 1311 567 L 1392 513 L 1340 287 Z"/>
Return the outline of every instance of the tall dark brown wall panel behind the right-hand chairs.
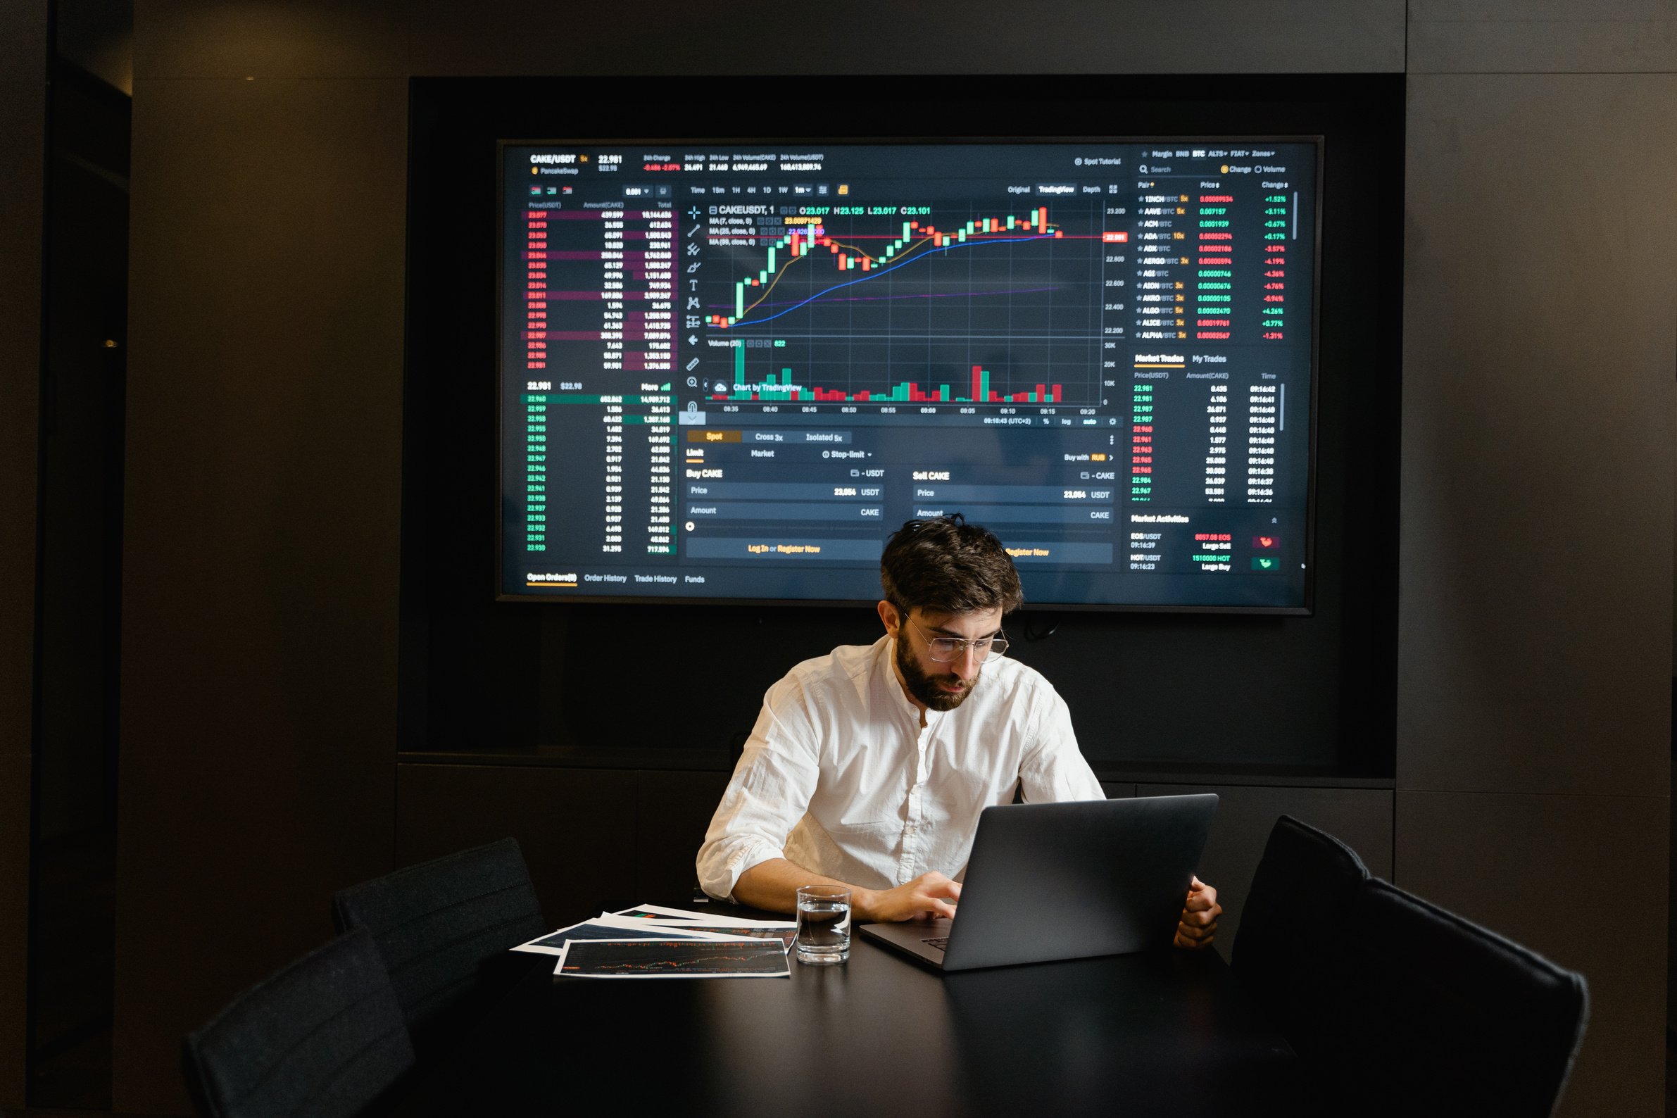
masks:
<path fill-rule="evenodd" d="M 1677 77 L 1412 75 L 1407 117 L 1397 883 L 1581 969 L 1565 1113 L 1652 1113 Z"/>

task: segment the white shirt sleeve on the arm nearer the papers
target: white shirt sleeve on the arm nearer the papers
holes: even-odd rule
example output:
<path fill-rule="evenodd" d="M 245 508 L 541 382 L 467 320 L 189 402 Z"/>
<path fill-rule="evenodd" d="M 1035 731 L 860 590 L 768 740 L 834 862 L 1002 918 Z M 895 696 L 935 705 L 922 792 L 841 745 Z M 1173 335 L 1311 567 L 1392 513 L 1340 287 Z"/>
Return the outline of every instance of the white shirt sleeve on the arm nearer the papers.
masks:
<path fill-rule="evenodd" d="M 741 873 L 783 858 L 787 835 L 808 811 L 820 761 L 807 704 L 808 696 L 792 679 L 763 696 L 756 726 L 699 846 L 699 887 L 711 897 L 733 900 Z"/>

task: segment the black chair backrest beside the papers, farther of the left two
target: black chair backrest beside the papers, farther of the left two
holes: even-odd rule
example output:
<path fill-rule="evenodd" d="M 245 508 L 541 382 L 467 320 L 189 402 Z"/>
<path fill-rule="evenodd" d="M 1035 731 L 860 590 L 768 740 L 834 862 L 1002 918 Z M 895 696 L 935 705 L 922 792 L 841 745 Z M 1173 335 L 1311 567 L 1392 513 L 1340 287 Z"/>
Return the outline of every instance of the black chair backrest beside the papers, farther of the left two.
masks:
<path fill-rule="evenodd" d="M 352 885 L 332 898 L 332 915 L 339 929 L 372 934 L 421 1054 L 446 1044 L 517 970 L 508 947 L 548 930 L 513 838 Z"/>

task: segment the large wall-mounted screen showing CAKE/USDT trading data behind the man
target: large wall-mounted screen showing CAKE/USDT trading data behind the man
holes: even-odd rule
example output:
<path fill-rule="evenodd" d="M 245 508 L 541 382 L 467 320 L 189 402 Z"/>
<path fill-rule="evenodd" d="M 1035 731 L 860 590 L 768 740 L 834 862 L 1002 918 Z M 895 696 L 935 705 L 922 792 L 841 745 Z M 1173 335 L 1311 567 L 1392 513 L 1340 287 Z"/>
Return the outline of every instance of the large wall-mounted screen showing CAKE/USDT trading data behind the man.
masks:
<path fill-rule="evenodd" d="M 501 151 L 503 595 L 1306 605 L 1316 142 Z"/>

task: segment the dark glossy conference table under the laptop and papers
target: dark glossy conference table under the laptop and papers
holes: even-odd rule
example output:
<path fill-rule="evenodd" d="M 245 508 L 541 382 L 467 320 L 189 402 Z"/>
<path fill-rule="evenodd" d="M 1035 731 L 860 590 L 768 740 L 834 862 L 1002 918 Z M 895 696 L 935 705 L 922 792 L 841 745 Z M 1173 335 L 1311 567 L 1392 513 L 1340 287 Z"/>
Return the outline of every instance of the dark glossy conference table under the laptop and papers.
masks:
<path fill-rule="evenodd" d="M 766 915 L 714 908 L 718 915 Z M 852 937 L 790 979 L 553 977 L 533 955 L 402 1115 L 1298 1113 L 1298 1061 L 1211 950 L 942 976 Z"/>

